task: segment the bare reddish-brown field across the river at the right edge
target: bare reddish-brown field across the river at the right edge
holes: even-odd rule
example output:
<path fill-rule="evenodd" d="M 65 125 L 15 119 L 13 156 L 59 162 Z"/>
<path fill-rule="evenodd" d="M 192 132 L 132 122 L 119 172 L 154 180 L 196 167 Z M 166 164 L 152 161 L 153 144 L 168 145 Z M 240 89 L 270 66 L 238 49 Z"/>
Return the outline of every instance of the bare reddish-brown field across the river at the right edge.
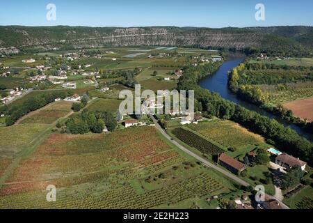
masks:
<path fill-rule="evenodd" d="M 284 103 L 284 107 L 294 112 L 294 116 L 313 121 L 313 97 Z"/>

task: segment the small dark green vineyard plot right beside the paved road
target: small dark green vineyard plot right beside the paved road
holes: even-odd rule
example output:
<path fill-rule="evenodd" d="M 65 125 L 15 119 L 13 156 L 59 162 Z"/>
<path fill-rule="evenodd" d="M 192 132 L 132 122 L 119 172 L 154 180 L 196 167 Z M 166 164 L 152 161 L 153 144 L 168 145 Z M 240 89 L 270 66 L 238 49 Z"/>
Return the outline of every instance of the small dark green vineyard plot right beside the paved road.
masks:
<path fill-rule="evenodd" d="M 184 141 L 188 146 L 192 146 L 204 154 L 217 155 L 224 152 L 222 148 L 203 139 L 198 136 L 198 134 L 185 130 L 184 128 L 176 128 L 175 130 L 172 130 L 172 133 L 175 134 L 179 140 Z"/>

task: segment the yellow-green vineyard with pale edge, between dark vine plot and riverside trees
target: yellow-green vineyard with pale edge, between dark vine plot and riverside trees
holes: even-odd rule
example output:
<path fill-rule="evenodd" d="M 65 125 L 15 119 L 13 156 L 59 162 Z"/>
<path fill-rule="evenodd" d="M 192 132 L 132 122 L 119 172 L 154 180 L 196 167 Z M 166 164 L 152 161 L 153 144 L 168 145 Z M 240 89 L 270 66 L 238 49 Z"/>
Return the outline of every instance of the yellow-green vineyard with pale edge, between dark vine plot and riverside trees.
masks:
<path fill-rule="evenodd" d="M 198 125 L 189 125 L 188 128 L 225 147 L 252 145 L 263 141 L 259 135 L 249 132 L 232 121 L 198 123 Z"/>

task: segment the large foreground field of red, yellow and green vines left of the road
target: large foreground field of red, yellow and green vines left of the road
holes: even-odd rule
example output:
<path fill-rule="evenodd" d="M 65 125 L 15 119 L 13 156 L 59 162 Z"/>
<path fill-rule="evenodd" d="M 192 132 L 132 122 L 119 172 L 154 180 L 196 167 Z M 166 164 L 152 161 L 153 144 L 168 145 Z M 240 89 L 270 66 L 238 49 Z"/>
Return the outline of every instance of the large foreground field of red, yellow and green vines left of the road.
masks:
<path fill-rule="evenodd" d="M 51 184 L 58 199 L 49 203 L 42 190 Z M 232 183 L 170 146 L 154 128 L 51 134 L 6 180 L 0 207 L 153 208 L 230 188 Z"/>

